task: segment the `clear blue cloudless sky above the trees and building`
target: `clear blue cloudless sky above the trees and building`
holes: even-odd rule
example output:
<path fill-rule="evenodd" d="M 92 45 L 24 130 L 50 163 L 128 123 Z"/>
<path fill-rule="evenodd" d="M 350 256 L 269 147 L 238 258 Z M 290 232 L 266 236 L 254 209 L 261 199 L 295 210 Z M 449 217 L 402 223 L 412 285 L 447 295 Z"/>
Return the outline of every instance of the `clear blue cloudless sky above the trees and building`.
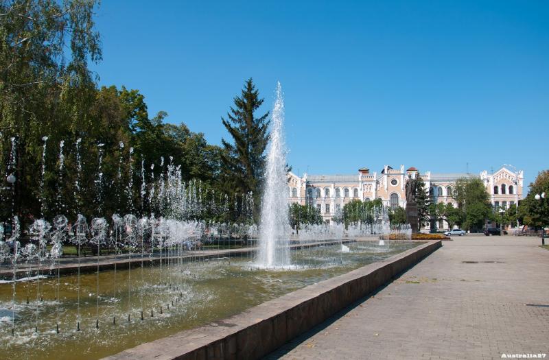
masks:
<path fill-rule="evenodd" d="M 96 21 L 100 84 L 211 143 L 246 78 L 263 112 L 280 80 L 295 172 L 549 168 L 549 1 L 104 0 Z"/>

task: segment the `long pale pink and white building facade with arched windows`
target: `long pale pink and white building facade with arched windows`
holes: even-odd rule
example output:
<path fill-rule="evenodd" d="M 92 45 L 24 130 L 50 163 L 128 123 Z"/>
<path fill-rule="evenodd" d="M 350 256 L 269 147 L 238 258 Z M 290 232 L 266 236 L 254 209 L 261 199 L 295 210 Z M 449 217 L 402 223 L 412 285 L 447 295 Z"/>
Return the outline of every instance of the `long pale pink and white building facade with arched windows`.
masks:
<path fill-rule="evenodd" d="M 385 165 L 379 173 L 371 172 L 363 167 L 358 173 L 351 175 L 308 175 L 302 177 L 288 173 L 288 201 L 301 205 L 316 206 L 326 222 L 343 208 L 344 204 L 358 199 L 369 201 L 380 199 L 385 206 L 395 208 L 406 207 L 405 185 L 408 176 L 421 176 L 425 182 L 425 190 L 435 202 L 445 204 L 451 202 L 457 206 L 452 197 L 452 189 L 459 178 L 480 178 L 490 195 L 490 202 L 498 211 L 509 208 L 522 200 L 524 172 L 513 172 L 502 167 L 495 173 L 482 171 L 479 175 L 470 173 L 419 173 L 415 167 L 404 171 L 404 165 L 393 169 Z M 447 224 L 441 221 L 437 228 L 445 229 Z"/>

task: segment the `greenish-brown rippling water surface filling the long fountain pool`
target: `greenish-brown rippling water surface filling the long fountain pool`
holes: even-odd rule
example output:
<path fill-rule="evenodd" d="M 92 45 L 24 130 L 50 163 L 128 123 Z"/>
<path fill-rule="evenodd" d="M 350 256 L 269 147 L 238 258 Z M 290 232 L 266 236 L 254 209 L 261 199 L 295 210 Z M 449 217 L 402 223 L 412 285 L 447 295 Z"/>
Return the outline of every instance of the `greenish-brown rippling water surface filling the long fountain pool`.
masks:
<path fill-rule="evenodd" d="M 275 271 L 255 267 L 250 258 L 176 262 L 161 267 L 150 267 L 145 261 L 142 268 L 131 272 L 121 265 L 117 272 L 100 272 L 98 307 L 97 274 L 80 276 L 80 303 L 76 275 L 60 278 L 59 302 L 55 277 L 20 281 L 16 284 L 14 336 L 12 284 L 3 283 L 0 358 L 97 359 L 234 315 L 415 245 L 349 243 L 344 251 L 341 245 L 299 250 L 292 252 L 294 265 L 290 269 Z M 60 324 L 59 333 L 56 324 Z"/>

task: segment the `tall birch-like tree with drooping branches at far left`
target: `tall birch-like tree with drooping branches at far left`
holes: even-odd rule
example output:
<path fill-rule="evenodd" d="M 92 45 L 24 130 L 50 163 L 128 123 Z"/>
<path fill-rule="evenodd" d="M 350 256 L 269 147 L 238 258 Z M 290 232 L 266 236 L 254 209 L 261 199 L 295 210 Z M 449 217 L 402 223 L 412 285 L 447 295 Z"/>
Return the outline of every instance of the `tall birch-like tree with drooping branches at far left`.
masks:
<path fill-rule="evenodd" d="M 0 2 L 0 152 L 8 163 L 16 141 L 15 208 L 20 219 L 40 216 L 40 158 L 44 135 L 50 142 L 75 140 L 94 99 L 88 62 L 101 60 L 93 22 L 93 0 Z M 67 111 L 69 109 L 70 111 Z M 58 147 L 58 145 L 57 145 Z M 53 150 L 53 148 L 52 148 Z M 56 149 L 58 150 L 58 148 Z M 51 161 L 51 169 L 59 163 Z M 58 197 L 66 178 L 45 174 Z M 59 207 L 56 202 L 56 207 Z M 59 208 L 57 210 L 60 210 Z M 66 210 L 62 208 L 62 210 Z"/>

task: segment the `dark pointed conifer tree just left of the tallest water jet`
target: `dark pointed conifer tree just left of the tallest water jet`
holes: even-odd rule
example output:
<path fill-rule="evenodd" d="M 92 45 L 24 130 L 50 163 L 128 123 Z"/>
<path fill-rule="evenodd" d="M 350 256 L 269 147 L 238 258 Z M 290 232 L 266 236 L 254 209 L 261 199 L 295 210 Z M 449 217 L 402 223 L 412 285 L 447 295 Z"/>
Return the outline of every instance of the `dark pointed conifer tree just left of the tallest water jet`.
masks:
<path fill-rule="evenodd" d="M 246 80 L 240 97 L 234 98 L 235 106 L 222 118 L 222 123 L 232 142 L 222 139 L 224 152 L 221 160 L 224 180 L 231 185 L 231 191 L 252 192 L 255 197 L 255 217 L 259 213 L 261 180 L 264 176 L 265 149 L 268 143 L 268 115 L 255 117 L 256 110 L 263 104 L 259 91 L 250 77 Z"/>

